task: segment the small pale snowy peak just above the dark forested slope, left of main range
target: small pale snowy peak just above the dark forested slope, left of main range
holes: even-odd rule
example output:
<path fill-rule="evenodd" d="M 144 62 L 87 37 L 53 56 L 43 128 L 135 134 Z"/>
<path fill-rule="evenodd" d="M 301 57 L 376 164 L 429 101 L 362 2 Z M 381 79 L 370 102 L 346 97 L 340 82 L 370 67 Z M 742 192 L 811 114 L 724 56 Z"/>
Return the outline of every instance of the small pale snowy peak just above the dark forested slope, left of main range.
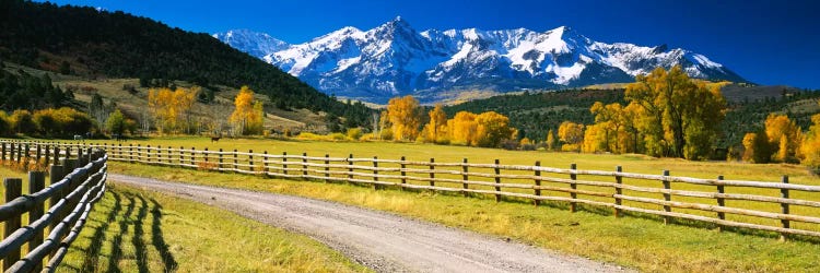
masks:
<path fill-rule="evenodd" d="M 266 33 L 251 32 L 249 29 L 234 29 L 211 35 L 233 48 L 239 49 L 255 57 L 263 57 L 270 52 L 286 49 L 288 43 L 271 37 Z"/>

